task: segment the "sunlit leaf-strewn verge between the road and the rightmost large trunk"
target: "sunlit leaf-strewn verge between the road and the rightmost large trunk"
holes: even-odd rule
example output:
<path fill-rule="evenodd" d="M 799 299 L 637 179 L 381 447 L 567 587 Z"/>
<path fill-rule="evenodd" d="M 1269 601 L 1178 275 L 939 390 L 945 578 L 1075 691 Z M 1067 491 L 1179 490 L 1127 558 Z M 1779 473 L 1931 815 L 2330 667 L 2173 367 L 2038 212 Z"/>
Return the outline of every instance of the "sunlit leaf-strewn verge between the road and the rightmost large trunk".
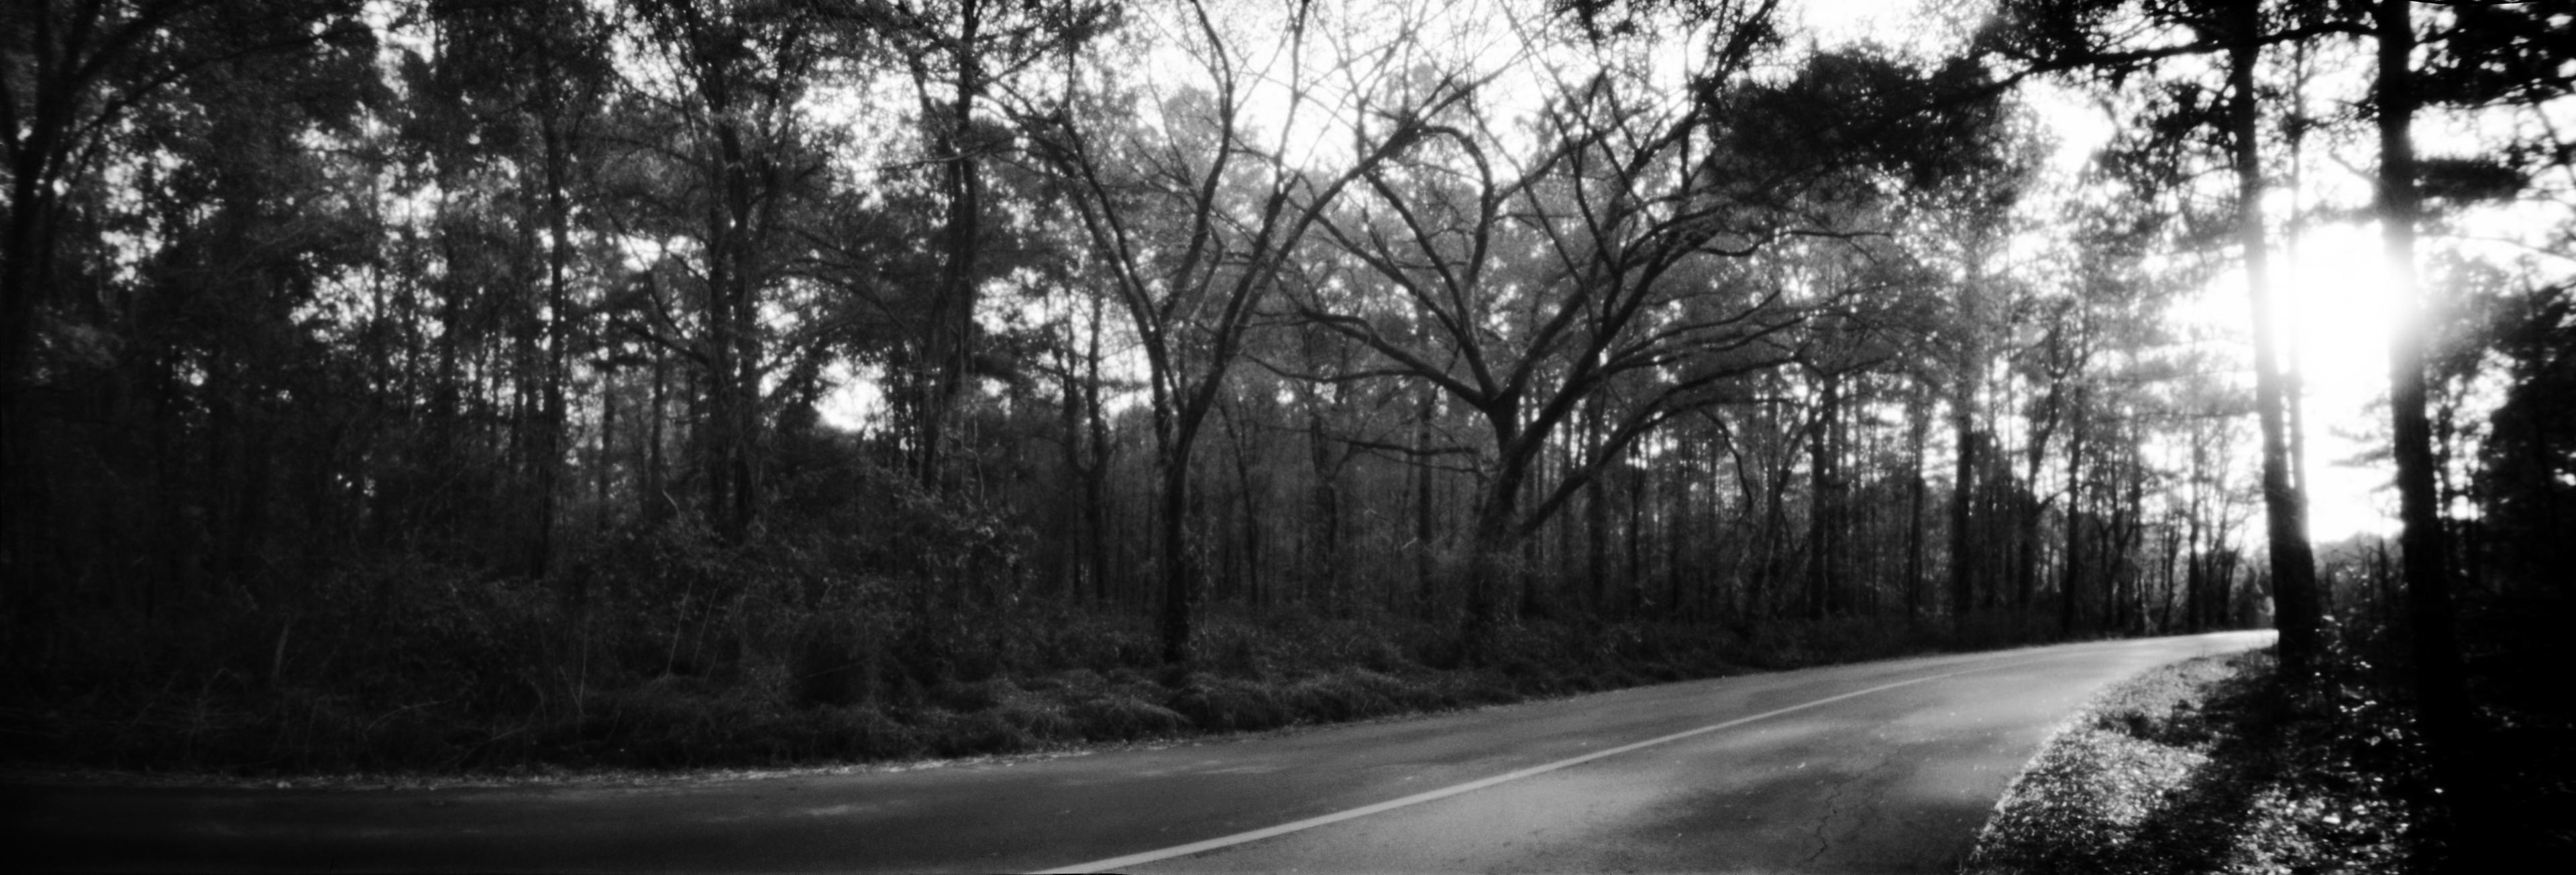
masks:
<path fill-rule="evenodd" d="M 2370 767 L 2403 767 L 2403 721 L 2349 690 L 2300 705 L 2342 713 L 2295 708 L 2269 649 L 2128 679 L 2014 780 L 1963 872 L 2401 872 L 2414 816 Z"/>

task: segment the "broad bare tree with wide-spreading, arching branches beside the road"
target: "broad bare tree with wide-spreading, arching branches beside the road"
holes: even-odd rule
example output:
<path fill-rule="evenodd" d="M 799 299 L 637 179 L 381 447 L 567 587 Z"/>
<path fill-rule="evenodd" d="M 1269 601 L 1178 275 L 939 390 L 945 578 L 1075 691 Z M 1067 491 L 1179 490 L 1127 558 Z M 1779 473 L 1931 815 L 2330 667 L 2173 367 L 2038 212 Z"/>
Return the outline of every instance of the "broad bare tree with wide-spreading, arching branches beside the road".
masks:
<path fill-rule="evenodd" d="M 1790 82 L 1757 85 L 1747 75 L 1770 49 L 1772 5 L 1700 13 L 1708 46 L 1687 95 L 1659 93 L 1649 46 L 1631 46 L 1597 67 L 1543 67 L 1546 103 L 1528 121 L 1484 106 L 1437 118 L 1422 149 L 1332 216 L 1360 270 L 1301 291 L 1306 319 L 1378 355 L 1370 373 L 1427 381 L 1484 419 L 1471 641 L 1517 579 L 1515 543 L 1638 440 L 1798 360 L 1795 327 L 1886 291 L 1865 273 L 1783 283 L 1747 268 L 1752 255 L 1870 237 L 1904 190 L 1989 154 L 1994 108 L 1963 98 L 1971 69 L 1821 54 Z M 1600 417 L 1584 458 L 1525 497 L 1579 417 Z"/>

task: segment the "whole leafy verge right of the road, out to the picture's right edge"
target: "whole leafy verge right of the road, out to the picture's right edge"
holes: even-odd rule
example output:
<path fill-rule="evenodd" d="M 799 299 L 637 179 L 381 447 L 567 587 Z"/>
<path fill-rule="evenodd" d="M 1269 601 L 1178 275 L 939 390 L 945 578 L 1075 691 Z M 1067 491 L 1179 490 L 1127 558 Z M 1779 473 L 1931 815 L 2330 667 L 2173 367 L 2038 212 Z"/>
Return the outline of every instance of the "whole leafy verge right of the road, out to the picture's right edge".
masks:
<path fill-rule="evenodd" d="M 2532 607 L 2545 605 L 2519 605 Z M 2264 649 L 2102 692 L 2014 780 L 1960 872 L 2501 872 L 2561 860 L 2576 849 L 2576 826 L 2555 816 L 2576 806 L 2576 721 L 2558 679 L 2517 664 L 2568 667 L 2568 646 L 2488 610 L 2468 628 L 2488 659 L 2473 674 L 2465 785 L 2434 790 L 2406 651 L 2383 628 L 2347 628 L 2303 687 Z"/>

